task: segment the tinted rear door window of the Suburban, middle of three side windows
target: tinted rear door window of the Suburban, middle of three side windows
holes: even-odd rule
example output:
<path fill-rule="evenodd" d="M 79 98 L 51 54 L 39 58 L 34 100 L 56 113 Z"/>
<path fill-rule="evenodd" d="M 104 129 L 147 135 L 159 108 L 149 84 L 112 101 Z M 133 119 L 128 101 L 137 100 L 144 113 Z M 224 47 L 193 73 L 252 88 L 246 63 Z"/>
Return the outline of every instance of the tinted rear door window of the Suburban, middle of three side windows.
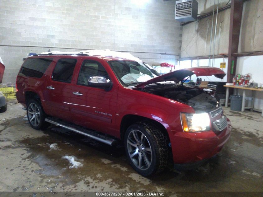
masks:
<path fill-rule="evenodd" d="M 70 83 L 76 63 L 76 59 L 59 59 L 54 68 L 52 79 L 54 81 Z"/>

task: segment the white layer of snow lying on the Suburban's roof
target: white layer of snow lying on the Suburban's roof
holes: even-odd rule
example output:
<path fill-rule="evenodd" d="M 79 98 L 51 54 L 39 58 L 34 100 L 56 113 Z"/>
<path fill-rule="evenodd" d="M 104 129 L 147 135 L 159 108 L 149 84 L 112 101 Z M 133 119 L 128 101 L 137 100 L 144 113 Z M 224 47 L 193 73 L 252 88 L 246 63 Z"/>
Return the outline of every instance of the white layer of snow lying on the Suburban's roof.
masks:
<path fill-rule="evenodd" d="M 50 51 L 50 52 L 43 52 L 41 53 L 42 55 L 47 55 L 49 53 L 52 54 L 78 54 L 78 53 L 83 53 L 83 54 L 88 54 L 89 56 L 102 56 L 102 57 L 112 57 L 112 58 L 120 58 L 120 59 L 129 59 L 129 60 L 134 60 L 136 62 L 143 62 L 139 58 L 134 57 L 130 53 L 124 53 L 124 52 L 118 52 L 118 51 L 111 51 L 110 49 L 106 50 L 86 50 L 86 51 Z"/>

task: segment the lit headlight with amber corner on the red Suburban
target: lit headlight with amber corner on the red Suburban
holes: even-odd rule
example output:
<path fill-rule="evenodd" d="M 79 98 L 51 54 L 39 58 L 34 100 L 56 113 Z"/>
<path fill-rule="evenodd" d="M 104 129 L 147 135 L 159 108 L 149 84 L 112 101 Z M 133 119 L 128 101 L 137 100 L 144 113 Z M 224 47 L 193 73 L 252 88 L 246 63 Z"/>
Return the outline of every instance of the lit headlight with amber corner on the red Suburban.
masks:
<path fill-rule="evenodd" d="M 200 132 L 210 130 L 210 118 L 207 113 L 181 113 L 181 122 L 183 130 L 186 132 Z"/>

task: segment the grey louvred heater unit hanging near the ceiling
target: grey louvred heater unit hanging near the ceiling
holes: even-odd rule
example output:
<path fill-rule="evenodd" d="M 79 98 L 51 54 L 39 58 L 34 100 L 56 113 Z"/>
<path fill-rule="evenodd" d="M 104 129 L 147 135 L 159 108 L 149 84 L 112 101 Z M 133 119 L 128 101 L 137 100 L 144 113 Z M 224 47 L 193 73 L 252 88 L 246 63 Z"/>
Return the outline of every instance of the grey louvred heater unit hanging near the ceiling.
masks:
<path fill-rule="evenodd" d="M 195 0 L 179 0 L 175 2 L 175 20 L 180 22 L 197 20 L 198 2 Z"/>

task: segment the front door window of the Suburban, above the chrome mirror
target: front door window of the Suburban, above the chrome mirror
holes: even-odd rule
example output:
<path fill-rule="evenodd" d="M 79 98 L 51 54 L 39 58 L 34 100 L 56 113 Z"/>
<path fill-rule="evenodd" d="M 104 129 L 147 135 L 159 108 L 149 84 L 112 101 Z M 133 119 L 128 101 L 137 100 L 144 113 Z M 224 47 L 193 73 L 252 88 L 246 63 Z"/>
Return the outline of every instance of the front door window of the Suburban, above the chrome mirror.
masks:
<path fill-rule="evenodd" d="M 77 84 L 88 85 L 90 77 L 104 77 L 110 82 L 110 77 L 101 63 L 94 60 L 84 60 L 78 75 Z"/>

